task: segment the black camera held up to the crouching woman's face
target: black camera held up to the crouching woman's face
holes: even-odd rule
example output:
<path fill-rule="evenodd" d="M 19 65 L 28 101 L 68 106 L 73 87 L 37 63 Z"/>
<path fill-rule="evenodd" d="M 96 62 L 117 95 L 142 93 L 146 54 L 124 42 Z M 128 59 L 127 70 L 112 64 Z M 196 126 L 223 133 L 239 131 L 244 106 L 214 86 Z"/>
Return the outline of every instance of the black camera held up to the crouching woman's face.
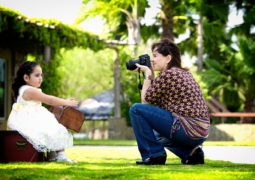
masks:
<path fill-rule="evenodd" d="M 126 62 L 126 67 L 128 70 L 135 70 L 137 66 L 135 64 L 140 64 L 144 65 L 147 67 L 151 67 L 151 61 L 150 61 L 150 56 L 148 54 L 143 54 L 138 57 L 137 60 L 129 60 Z"/>

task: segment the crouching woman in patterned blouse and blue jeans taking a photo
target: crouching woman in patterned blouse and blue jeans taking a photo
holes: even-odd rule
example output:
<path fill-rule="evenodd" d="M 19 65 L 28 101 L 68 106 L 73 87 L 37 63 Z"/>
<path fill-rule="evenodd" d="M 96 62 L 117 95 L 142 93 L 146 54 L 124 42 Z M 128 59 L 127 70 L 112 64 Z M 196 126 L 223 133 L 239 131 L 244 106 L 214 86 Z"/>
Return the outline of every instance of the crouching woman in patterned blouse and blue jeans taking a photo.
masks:
<path fill-rule="evenodd" d="M 130 108 L 130 117 L 142 160 L 136 164 L 165 164 L 164 147 L 183 164 L 204 164 L 200 145 L 208 136 L 209 111 L 198 83 L 181 67 L 179 48 L 163 39 L 152 45 L 152 70 L 145 74 L 142 103 Z M 155 79 L 153 71 L 160 71 Z"/>

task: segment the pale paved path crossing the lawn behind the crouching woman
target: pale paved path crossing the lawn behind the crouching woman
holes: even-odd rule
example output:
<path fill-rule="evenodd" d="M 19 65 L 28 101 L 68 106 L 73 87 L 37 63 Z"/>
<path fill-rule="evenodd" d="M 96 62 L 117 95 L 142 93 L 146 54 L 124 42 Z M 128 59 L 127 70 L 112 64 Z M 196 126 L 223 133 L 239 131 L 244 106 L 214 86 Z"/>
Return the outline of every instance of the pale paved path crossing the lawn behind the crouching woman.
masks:
<path fill-rule="evenodd" d="M 119 148 L 137 150 L 136 146 L 75 146 L 81 148 Z M 255 146 L 204 146 L 205 158 L 233 163 L 255 164 Z"/>

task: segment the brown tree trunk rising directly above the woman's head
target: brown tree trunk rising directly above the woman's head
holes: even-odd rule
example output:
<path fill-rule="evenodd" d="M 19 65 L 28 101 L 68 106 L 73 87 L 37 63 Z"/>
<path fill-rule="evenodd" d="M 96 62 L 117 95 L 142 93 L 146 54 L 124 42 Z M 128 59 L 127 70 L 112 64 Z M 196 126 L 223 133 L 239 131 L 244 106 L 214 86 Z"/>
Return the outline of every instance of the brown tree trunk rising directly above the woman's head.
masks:
<path fill-rule="evenodd" d="M 173 14 L 172 14 L 172 9 L 170 6 L 170 3 L 168 0 L 160 0 L 160 5 L 161 5 L 161 23 L 162 23 L 162 34 L 161 38 L 169 38 L 172 41 L 174 41 L 174 34 L 173 34 L 173 29 L 174 29 L 174 22 L 173 22 Z"/>

